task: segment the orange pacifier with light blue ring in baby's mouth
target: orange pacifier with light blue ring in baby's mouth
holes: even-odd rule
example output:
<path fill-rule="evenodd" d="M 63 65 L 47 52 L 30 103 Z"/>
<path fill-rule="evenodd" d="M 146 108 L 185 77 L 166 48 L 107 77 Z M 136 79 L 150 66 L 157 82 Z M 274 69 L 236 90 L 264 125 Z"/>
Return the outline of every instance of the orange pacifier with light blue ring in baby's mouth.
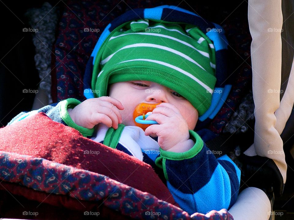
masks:
<path fill-rule="evenodd" d="M 145 131 L 145 129 L 149 127 L 150 125 L 158 124 L 156 121 L 145 120 L 145 119 L 152 114 L 153 109 L 156 108 L 156 105 L 159 105 L 159 104 L 160 103 L 155 103 L 155 104 L 140 103 L 139 105 L 137 105 L 133 115 L 135 125 L 142 128 Z"/>

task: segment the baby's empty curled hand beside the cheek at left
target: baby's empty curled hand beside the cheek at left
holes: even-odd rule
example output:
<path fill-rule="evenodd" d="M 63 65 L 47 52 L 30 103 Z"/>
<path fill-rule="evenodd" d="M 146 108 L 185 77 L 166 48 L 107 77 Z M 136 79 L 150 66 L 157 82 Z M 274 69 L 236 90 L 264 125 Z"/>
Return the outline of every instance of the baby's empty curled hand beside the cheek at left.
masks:
<path fill-rule="evenodd" d="M 107 127 L 118 128 L 122 123 L 122 116 L 119 110 L 124 107 L 120 101 L 109 96 L 90 98 L 83 101 L 73 109 L 68 109 L 71 119 L 81 127 L 93 128 L 98 123 Z"/>

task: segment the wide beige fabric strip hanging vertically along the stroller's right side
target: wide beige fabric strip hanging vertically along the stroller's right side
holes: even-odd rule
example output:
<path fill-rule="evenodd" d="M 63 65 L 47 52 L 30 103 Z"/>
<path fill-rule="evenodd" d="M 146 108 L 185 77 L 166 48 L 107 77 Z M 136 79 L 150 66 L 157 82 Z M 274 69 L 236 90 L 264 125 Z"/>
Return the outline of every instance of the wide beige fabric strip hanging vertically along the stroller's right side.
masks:
<path fill-rule="evenodd" d="M 254 147 L 259 156 L 273 159 L 284 183 L 287 165 L 283 141 L 275 128 L 274 112 L 280 106 L 283 24 L 281 0 L 249 0 L 248 21 L 251 43 L 252 86 L 255 104 Z M 248 152 L 253 152 L 252 148 Z"/>

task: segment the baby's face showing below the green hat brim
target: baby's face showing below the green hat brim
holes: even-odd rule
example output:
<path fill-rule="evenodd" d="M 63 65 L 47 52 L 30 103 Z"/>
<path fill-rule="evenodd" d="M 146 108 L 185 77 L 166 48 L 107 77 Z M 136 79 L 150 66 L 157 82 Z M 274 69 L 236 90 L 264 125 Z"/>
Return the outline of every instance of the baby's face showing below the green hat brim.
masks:
<path fill-rule="evenodd" d="M 198 120 L 198 111 L 184 97 L 156 82 L 133 80 L 127 82 L 116 82 L 109 85 L 109 96 L 119 100 L 124 107 L 120 111 L 123 124 L 135 126 L 133 113 L 136 106 L 142 102 L 162 103 L 167 102 L 175 105 L 186 120 L 189 130 L 194 130 Z"/>

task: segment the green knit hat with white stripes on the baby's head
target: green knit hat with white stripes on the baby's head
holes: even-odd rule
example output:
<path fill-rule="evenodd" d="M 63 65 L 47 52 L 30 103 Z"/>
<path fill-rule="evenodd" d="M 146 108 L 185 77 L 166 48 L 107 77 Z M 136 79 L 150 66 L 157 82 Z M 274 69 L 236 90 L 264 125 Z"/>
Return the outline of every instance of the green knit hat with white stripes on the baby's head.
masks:
<path fill-rule="evenodd" d="M 212 100 L 215 48 L 195 25 L 156 20 L 133 20 L 115 28 L 96 56 L 92 88 L 107 95 L 115 82 L 146 80 L 185 97 L 205 113 Z"/>

